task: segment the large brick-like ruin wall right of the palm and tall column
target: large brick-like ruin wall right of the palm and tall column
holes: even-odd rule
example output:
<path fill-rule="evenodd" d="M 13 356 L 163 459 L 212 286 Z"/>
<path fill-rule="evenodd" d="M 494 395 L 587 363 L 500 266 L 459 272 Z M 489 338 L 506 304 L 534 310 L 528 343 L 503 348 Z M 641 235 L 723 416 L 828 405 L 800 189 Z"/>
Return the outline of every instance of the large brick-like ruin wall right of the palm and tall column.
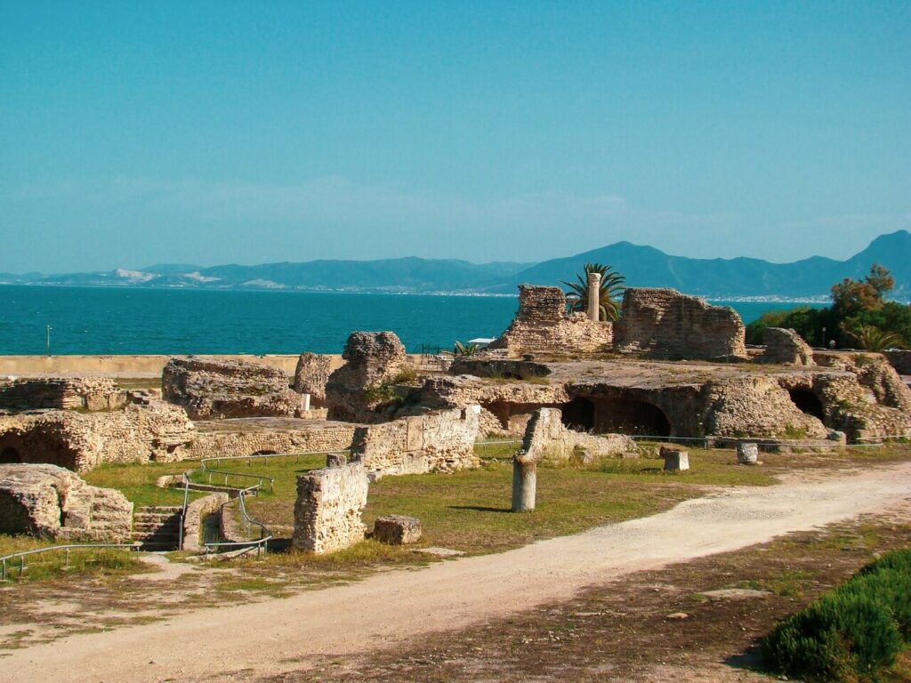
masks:
<path fill-rule="evenodd" d="M 614 324 L 614 347 L 669 359 L 745 358 L 737 311 L 670 289 L 630 287 Z"/>

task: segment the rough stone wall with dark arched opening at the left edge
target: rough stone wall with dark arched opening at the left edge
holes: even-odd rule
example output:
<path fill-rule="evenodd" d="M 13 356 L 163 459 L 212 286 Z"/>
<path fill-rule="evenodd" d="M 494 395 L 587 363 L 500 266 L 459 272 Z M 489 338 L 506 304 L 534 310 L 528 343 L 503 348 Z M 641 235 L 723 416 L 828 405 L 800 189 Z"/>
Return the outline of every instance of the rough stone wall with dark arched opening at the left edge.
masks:
<path fill-rule="evenodd" d="M 182 460 L 193 437 L 187 413 L 148 396 L 142 400 L 111 413 L 0 416 L 0 462 L 50 463 L 87 472 L 101 463 Z"/>

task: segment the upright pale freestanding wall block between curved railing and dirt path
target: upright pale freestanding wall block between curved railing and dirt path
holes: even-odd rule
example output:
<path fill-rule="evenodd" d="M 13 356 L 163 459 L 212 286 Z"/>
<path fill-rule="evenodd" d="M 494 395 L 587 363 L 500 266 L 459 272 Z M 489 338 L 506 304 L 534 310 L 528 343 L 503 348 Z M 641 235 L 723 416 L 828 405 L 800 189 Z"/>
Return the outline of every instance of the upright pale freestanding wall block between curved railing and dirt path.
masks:
<path fill-rule="evenodd" d="M 363 464 L 314 470 L 297 478 L 292 545 L 317 555 L 363 541 L 368 479 Z"/>

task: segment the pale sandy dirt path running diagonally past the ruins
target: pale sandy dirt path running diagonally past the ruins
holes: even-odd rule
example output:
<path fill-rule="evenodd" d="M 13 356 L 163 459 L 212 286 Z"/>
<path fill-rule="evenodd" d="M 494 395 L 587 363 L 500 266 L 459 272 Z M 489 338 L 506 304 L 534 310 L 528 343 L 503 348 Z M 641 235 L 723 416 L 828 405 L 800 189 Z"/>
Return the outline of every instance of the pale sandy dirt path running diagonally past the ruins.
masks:
<path fill-rule="evenodd" d="M 762 543 L 909 497 L 911 463 L 732 489 L 500 555 L 28 647 L 3 660 L 0 678 L 139 683 L 299 670 L 308 658 L 394 647 L 419 634 L 568 599 L 630 572 Z"/>

